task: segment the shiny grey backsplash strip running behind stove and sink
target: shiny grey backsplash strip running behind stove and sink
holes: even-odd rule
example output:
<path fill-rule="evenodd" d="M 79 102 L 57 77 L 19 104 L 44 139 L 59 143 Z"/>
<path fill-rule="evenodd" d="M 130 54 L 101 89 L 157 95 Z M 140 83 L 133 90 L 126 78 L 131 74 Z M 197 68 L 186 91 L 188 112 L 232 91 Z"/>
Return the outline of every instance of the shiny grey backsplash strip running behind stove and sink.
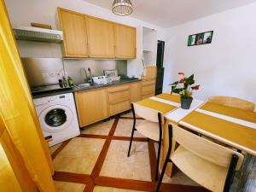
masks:
<path fill-rule="evenodd" d="M 90 67 L 93 76 L 103 75 L 105 69 L 117 69 L 119 75 L 127 74 L 126 61 L 65 59 L 61 58 L 22 58 L 26 77 L 31 87 L 44 84 L 57 84 L 64 73 L 73 78 L 75 84 L 84 83 L 84 68 Z M 87 73 L 89 76 L 89 73 Z"/>

